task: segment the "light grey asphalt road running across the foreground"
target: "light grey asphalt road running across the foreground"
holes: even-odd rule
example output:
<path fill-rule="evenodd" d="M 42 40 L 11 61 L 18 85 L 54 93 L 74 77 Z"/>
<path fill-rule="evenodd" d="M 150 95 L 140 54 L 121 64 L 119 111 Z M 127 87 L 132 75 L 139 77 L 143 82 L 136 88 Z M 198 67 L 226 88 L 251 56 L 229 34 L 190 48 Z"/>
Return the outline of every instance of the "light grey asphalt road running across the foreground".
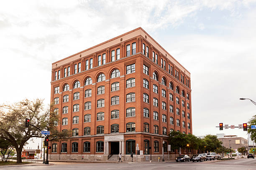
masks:
<path fill-rule="evenodd" d="M 52 163 L 52 162 L 51 162 Z M 5 167 L 4 170 L 256 170 L 256 159 L 185 163 L 55 163 L 49 166 Z M 0 167 L 0 169 L 2 169 Z"/>

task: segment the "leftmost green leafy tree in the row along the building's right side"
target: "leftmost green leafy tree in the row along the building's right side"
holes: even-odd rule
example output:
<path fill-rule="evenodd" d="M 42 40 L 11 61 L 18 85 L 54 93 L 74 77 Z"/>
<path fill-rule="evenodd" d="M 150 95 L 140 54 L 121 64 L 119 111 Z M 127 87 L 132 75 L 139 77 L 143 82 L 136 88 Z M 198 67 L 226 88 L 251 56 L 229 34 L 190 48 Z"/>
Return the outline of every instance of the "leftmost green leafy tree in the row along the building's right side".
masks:
<path fill-rule="evenodd" d="M 187 135 L 177 131 L 172 131 L 169 136 L 169 143 L 173 149 L 184 148 L 188 144 Z"/>

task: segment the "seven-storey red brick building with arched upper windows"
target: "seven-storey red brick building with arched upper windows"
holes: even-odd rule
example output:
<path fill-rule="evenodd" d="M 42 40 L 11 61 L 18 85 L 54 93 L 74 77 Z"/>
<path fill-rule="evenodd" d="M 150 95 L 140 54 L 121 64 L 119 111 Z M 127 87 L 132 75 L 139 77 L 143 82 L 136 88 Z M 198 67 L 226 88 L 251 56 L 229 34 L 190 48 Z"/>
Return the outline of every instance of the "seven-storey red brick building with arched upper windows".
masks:
<path fill-rule="evenodd" d="M 50 159 L 128 160 L 138 144 L 156 160 L 170 130 L 192 133 L 190 73 L 142 28 L 54 62 L 51 100 L 73 136 Z"/>

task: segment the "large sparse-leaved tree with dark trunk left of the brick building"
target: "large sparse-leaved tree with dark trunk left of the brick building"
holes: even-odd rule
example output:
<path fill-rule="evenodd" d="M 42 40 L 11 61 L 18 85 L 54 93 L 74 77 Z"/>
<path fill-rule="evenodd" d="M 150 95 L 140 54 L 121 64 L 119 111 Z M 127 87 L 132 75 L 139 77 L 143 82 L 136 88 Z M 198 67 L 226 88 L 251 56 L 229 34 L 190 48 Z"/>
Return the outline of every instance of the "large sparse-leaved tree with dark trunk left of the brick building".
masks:
<path fill-rule="evenodd" d="M 28 128 L 25 127 L 26 118 L 30 120 Z M 33 137 L 43 137 L 41 130 L 51 131 L 50 140 L 58 141 L 70 136 L 70 130 L 57 130 L 57 122 L 60 122 L 59 115 L 52 112 L 52 105 L 45 109 L 41 99 L 25 99 L 0 106 L 0 138 L 8 140 L 15 147 L 17 163 L 21 163 L 21 151 L 27 141 Z"/>

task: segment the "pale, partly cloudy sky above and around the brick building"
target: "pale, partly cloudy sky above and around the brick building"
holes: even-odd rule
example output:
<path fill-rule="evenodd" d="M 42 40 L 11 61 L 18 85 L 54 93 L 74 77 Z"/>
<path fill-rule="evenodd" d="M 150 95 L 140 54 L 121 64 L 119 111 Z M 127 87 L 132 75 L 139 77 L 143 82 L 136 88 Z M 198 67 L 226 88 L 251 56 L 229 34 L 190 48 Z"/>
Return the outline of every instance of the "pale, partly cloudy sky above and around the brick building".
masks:
<path fill-rule="evenodd" d="M 256 0 L 23 0 L 0 5 L 0 103 L 50 102 L 51 63 L 138 27 L 191 73 L 194 135 L 256 115 Z M 26 147 L 36 148 L 41 139 Z"/>

